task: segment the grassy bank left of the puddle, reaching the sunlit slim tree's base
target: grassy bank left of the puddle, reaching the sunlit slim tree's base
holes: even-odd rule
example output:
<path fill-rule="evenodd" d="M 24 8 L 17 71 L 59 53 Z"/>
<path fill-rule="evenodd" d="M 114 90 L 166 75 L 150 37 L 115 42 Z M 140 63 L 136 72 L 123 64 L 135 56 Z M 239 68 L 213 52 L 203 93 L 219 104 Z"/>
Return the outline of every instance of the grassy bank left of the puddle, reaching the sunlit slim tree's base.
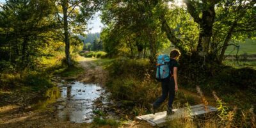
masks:
<path fill-rule="evenodd" d="M 39 68 L 24 69 L 22 72 L 1 72 L 0 107 L 6 105 L 31 106 L 49 98 L 49 90 L 56 87 L 52 76 L 76 78 L 83 68 L 68 68 L 63 64 L 63 54 L 41 58 Z M 76 57 L 74 57 L 76 59 Z M 76 62 L 74 61 L 75 65 Z"/>

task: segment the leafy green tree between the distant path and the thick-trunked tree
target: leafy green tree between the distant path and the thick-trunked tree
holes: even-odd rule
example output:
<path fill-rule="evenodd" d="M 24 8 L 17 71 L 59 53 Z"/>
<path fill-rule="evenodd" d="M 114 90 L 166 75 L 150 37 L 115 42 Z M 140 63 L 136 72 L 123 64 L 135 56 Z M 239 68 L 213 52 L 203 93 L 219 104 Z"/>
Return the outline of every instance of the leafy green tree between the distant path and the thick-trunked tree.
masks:
<path fill-rule="evenodd" d="M 134 47 L 137 47 L 138 52 L 141 52 L 143 47 L 148 46 L 150 61 L 154 63 L 159 45 L 158 41 L 162 36 L 157 20 L 157 13 L 159 12 L 156 8 L 157 1 L 154 0 L 108 1 L 102 11 L 102 20 L 107 26 L 111 26 L 108 29 L 109 32 L 114 33 L 115 31 L 115 33 L 119 33 L 118 35 L 122 35 L 116 35 L 116 39 L 119 40 L 118 44 L 125 39 L 123 45 L 129 47 L 131 54 L 133 54 Z M 148 45 L 140 42 L 148 42 Z"/>

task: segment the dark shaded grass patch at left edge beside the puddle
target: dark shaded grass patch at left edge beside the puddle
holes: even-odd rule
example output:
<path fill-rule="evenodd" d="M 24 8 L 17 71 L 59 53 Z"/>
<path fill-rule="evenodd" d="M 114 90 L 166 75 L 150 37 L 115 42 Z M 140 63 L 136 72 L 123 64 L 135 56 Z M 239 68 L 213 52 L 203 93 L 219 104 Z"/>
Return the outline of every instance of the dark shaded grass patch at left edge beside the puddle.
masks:
<path fill-rule="evenodd" d="M 54 86 L 45 73 L 1 74 L 0 107 L 6 105 L 30 106 L 46 98 L 49 88 Z"/>

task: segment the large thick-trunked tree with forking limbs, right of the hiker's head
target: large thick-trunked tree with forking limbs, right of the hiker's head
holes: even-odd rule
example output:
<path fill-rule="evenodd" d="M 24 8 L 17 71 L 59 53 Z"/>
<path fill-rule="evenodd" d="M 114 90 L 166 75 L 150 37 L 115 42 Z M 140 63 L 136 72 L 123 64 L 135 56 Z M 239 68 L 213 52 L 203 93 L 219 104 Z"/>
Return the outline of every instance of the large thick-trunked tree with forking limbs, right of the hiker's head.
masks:
<path fill-rule="evenodd" d="M 181 6 L 179 8 L 186 10 L 199 28 L 198 30 L 192 29 L 193 31 L 199 32 L 196 49 L 194 52 L 192 51 L 197 55 L 209 57 L 209 60 L 221 62 L 228 42 L 230 42 L 232 37 L 236 38 L 236 40 L 241 40 L 255 33 L 255 1 L 184 0 L 184 3 L 186 7 Z M 169 19 L 170 14 L 166 13 L 175 9 L 166 6 L 165 9 L 163 8 L 165 11 L 163 11 L 159 19 L 162 21 L 163 31 L 166 32 L 170 42 L 182 52 L 187 52 L 186 47 L 184 47 L 184 44 L 186 44 L 184 38 L 180 38 L 180 35 L 175 34 L 177 31 L 179 33 L 182 32 L 180 29 L 177 29 L 182 22 L 176 24 L 176 28 L 171 28 L 170 24 L 172 23 L 170 22 L 175 21 L 173 21 L 174 19 Z M 172 13 L 171 15 L 184 14 Z M 184 22 L 188 22 L 188 20 L 190 19 Z M 195 27 L 195 25 L 191 27 Z M 191 31 L 189 29 L 187 30 Z M 195 33 L 195 36 L 197 36 L 197 33 Z M 190 38 L 193 38 L 193 36 Z"/>

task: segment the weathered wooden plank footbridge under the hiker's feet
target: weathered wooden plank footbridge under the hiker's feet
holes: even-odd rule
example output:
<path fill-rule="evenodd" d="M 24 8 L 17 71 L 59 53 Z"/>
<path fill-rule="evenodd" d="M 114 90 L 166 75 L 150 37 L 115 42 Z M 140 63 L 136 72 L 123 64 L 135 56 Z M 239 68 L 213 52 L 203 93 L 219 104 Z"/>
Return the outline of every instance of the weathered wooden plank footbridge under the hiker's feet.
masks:
<path fill-rule="evenodd" d="M 180 108 L 180 109 L 173 109 L 174 114 L 166 116 L 166 111 L 149 114 L 149 115 L 143 115 L 143 116 L 136 116 L 138 120 L 145 120 L 149 124 L 155 126 L 163 126 L 166 124 L 168 120 L 173 120 L 175 118 L 184 118 L 188 116 L 196 116 L 196 115 L 202 115 L 205 113 L 210 113 L 212 111 L 217 111 L 216 108 L 212 106 L 204 106 L 204 104 L 198 104 L 195 106 L 191 106 L 190 108 Z"/>

